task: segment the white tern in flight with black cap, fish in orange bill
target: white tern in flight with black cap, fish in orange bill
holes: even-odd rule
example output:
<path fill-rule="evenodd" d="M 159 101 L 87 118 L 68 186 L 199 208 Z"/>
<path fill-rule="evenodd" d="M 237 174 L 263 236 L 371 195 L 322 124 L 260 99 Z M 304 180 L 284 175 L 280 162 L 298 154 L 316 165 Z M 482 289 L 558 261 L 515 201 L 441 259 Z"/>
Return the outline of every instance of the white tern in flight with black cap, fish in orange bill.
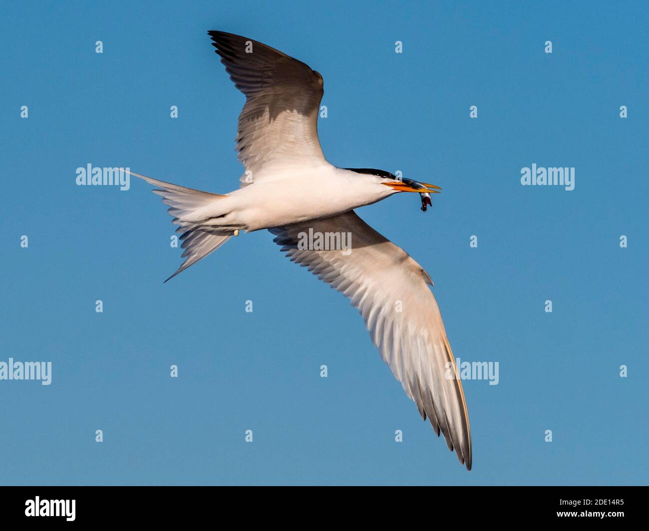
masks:
<path fill-rule="evenodd" d="M 428 418 L 437 436 L 444 434 L 448 448 L 471 470 L 467 405 L 428 287 L 432 280 L 408 253 L 354 212 L 402 192 L 420 193 L 426 211 L 430 194 L 439 187 L 387 171 L 331 165 L 317 134 L 323 77 L 252 39 L 221 31 L 208 34 L 230 79 L 246 97 L 236 137 L 245 174 L 238 189 L 220 195 L 132 173 L 158 187 L 154 193 L 162 196 L 182 233 L 185 261 L 171 277 L 239 231 L 271 231 L 291 261 L 351 300 L 419 414 Z M 310 231 L 350 234 L 350 250 L 300 245 Z"/>

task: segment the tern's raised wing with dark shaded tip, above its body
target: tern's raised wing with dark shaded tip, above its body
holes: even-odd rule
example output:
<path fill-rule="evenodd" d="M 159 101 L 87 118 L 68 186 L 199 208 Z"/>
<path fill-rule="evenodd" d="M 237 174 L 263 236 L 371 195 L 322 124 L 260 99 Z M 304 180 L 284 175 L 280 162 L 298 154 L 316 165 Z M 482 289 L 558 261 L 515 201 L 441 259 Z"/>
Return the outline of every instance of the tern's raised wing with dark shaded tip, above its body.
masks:
<path fill-rule="evenodd" d="M 236 138 L 239 161 L 254 182 L 273 169 L 323 161 L 317 117 L 323 78 L 310 67 L 265 44 L 208 32 L 212 45 L 246 102 Z"/>

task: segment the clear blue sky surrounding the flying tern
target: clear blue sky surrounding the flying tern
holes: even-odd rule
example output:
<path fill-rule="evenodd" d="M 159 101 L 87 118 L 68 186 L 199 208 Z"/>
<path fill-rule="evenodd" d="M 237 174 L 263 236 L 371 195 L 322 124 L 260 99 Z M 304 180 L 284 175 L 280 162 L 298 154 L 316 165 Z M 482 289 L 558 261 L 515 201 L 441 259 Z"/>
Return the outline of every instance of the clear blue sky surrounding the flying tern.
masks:
<path fill-rule="evenodd" d="M 0 361 L 53 364 L 49 386 L 0 381 L 0 482 L 646 483 L 646 3 L 0 11 Z M 180 251 L 151 187 L 75 185 L 92 163 L 238 187 L 243 95 L 209 29 L 322 73 L 332 163 L 444 188 L 425 215 L 409 194 L 359 213 L 433 277 L 456 357 L 499 363 L 498 385 L 464 382 L 470 473 L 419 418 L 356 310 L 269 233 L 232 240 L 163 285 Z M 574 191 L 523 187 L 532 163 L 574 167 Z"/>

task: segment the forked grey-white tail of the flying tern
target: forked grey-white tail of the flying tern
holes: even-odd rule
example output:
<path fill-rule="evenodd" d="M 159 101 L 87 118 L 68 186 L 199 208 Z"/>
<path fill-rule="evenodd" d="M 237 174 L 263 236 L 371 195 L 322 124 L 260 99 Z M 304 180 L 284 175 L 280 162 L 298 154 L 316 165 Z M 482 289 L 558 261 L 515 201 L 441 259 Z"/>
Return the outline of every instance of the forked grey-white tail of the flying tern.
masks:
<path fill-rule="evenodd" d="M 208 217 L 204 212 L 212 210 L 210 207 L 214 206 L 214 202 L 223 199 L 225 195 L 158 181 L 131 171 L 129 173 L 158 187 L 153 190 L 153 193 L 161 196 L 162 202 L 169 206 L 167 211 L 173 216 L 173 223 L 178 225 L 176 232 L 182 233 L 180 239 L 181 247 L 184 249 L 182 257 L 185 261 L 167 280 L 217 250 L 232 236 L 232 232 L 225 233 L 214 226 L 201 223 L 201 220 Z"/>

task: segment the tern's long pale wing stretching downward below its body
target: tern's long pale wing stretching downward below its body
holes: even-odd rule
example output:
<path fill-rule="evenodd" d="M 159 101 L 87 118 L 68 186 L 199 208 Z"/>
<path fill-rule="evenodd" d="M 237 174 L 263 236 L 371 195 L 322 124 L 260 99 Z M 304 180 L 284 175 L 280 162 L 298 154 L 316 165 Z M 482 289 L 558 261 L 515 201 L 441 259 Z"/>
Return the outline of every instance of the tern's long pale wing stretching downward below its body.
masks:
<path fill-rule="evenodd" d="M 349 255 L 304 248 L 300 241 L 306 243 L 303 235 L 310 229 L 325 239 L 326 233 L 349 233 Z M 444 434 L 448 448 L 471 470 L 467 405 L 428 274 L 354 211 L 270 231 L 291 261 L 351 300 L 419 414 L 428 417 L 437 436 Z"/>

